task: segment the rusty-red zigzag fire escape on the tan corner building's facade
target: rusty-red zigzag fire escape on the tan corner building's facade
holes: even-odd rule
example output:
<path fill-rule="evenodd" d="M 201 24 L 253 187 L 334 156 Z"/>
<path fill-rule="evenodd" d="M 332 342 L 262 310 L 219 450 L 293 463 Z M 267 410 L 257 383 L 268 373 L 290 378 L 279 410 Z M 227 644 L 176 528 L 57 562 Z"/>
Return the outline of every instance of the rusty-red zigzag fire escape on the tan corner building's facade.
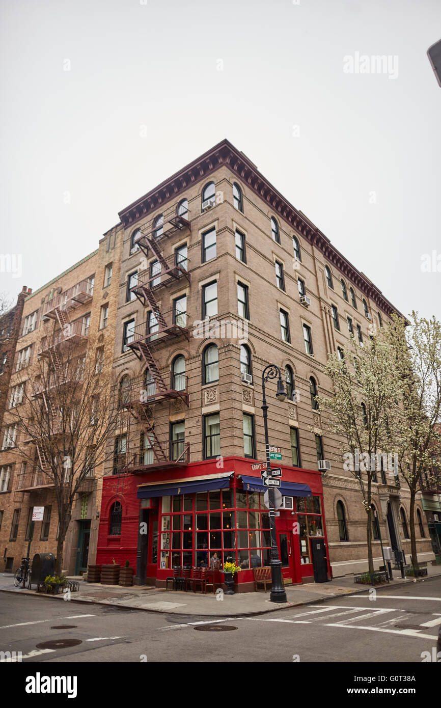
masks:
<path fill-rule="evenodd" d="M 186 212 L 186 216 L 188 216 L 188 212 Z M 159 228 L 161 228 L 162 232 L 157 235 Z M 173 310 L 164 313 L 161 312 L 154 292 L 159 290 L 159 288 L 168 287 L 173 282 L 181 280 L 182 278 L 191 282 L 191 275 L 188 273 L 187 268 L 188 259 L 184 258 L 178 262 L 176 254 L 164 258 L 160 246 L 161 242 L 164 243 L 164 240 L 168 239 L 173 234 L 179 231 L 190 231 L 190 228 L 190 221 L 188 221 L 188 219 L 182 215 L 173 214 L 168 217 L 160 227 L 156 225 L 154 229 L 142 234 L 142 236 L 137 239 L 137 244 L 139 244 L 145 256 L 151 258 L 151 253 L 153 253 L 160 266 L 160 270 L 158 269 L 154 274 L 150 273 L 149 270 L 139 273 L 137 285 L 131 288 L 131 292 L 136 295 L 139 302 L 141 302 L 144 307 L 150 307 L 156 323 L 154 324 L 154 331 L 151 331 L 151 321 L 143 322 L 135 326 L 133 329 L 133 341 L 127 344 L 127 347 L 134 352 L 139 361 L 147 365 L 147 370 L 151 376 L 151 379 L 149 379 L 151 392 L 149 394 L 149 391 L 147 391 L 145 399 L 140 400 L 139 389 L 144 388 L 144 386 L 139 386 L 140 382 L 138 382 L 138 384 L 137 382 L 133 382 L 131 388 L 134 394 L 132 394 L 132 391 L 130 392 L 124 407 L 129 411 L 132 418 L 139 423 L 144 435 L 144 440 L 147 438 L 149 442 L 147 450 L 151 450 L 154 456 L 155 467 L 170 467 L 171 464 L 188 464 L 189 445 L 183 445 L 182 452 L 179 455 L 175 454 L 173 443 L 170 440 L 161 441 L 154 430 L 150 406 L 167 399 L 178 398 L 181 398 L 188 406 L 186 377 L 184 375 L 178 375 L 180 378 L 179 384 L 177 384 L 176 375 L 174 375 L 173 372 L 168 372 L 166 376 L 162 375 L 154 357 L 156 348 L 158 348 L 158 346 L 162 347 L 164 343 L 176 340 L 176 338 L 181 336 L 184 336 L 190 341 L 190 331 L 185 326 L 186 313 L 177 313 Z M 185 385 L 182 385 L 184 380 Z M 142 471 L 142 468 L 145 469 L 148 467 L 145 464 L 141 464 L 143 462 L 141 459 L 142 453 L 130 451 L 128 449 L 128 443 L 129 435 L 127 435 L 127 464 L 124 470 L 127 472 L 135 472 L 137 469 L 140 469 Z M 144 450 L 145 449 L 144 447 Z"/>

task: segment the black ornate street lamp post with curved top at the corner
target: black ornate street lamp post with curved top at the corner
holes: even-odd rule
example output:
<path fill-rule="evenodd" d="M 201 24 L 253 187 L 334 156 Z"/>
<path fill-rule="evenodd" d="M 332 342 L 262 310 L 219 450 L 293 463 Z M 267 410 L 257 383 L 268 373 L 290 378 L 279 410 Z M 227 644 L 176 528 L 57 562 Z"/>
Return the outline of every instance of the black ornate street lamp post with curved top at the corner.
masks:
<path fill-rule="evenodd" d="M 275 364 L 269 364 L 262 374 L 262 393 L 263 393 L 263 405 L 261 406 L 263 410 L 263 423 L 265 426 L 265 448 L 266 448 L 266 469 L 270 472 L 270 442 L 268 440 L 268 404 L 265 398 L 265 382 L 269 379 L 277 379 L 277 394 L 276 398 L 279 401 L 285 401 L 287 396 L 285 387 L 283 386 L 282 377 L 280 375 L 280 369 Z M 269 476 L 269 475 L 268 475 Z M 285 593 L 285 588 L 282 584 L 282 561 L 279 557 L 279 549 L 277 548 L 277 539 L 275 537 L 275 500 L 274 500 L 274 487 L 268 487 L 268 499 L 270 503 L 270 533 L 271 533 L 271 594 L 270 601 L 272 603 L 286 603 L 287 594 Z"/>

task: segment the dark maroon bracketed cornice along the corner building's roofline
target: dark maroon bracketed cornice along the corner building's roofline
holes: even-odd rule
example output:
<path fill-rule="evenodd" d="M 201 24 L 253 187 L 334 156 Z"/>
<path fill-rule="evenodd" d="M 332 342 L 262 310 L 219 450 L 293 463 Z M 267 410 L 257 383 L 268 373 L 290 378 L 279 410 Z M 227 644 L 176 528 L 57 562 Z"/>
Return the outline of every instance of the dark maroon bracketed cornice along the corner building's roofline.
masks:
<path fill-rule="evenodd" d="M 330 261 L 342 275 L 353 282 L 367 297 L 376 302 L 386 314 L 396 312 L 403 316 L 365 275 L 360 273 L 350 261 L 331 244 L 328 238 L 309 219 L 297 210 L 268 180 L 256 169 L 248 158 L 239 152 L 227 139 L 214 145 L 210 150 L 197 157 L 140 199 L 118 212 L 125 229 L 136 224 L 161 207 L 164 202 L 183 195 L 185 190 L 205 180 L 210 173 L 226 165 L 248 188 L 268 203 L 270 208 L 290 224 L 292 229 L 316 246 L 323 256 Z"/>

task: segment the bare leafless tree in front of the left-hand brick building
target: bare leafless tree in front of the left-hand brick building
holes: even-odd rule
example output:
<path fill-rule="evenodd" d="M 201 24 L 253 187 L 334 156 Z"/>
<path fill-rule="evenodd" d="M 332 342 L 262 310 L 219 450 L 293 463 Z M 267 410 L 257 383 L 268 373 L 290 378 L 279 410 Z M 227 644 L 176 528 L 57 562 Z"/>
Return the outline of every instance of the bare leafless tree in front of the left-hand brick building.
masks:
<path fill-rule="evenodd" d="M 79 336 L 69 327 L 42 339 L 33 378 L 13 388 L 17 400 L 9 411 L 21 433 L 16 454 L 29 463 L 29 474 L 40 475 L 40 484 L 55 488 L 57 575 L 74 497 L 112 454 L 107 442 L 118 416 L 111 375 L 101 370 L 101 360 L 91 358 L 90 343 L 88 353 L 84 348 L 81 353 Z"/>

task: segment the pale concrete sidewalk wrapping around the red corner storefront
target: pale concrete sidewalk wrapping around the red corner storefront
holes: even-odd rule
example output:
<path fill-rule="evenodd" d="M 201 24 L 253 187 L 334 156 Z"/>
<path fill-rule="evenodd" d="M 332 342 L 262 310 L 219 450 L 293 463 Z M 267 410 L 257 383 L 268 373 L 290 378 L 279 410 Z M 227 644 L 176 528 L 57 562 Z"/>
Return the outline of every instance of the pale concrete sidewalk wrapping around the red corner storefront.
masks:
<path fill-rule="evenodd" d="M 399 576 L 394 571 L 394 576 Z M 441 576 L 441 566 L 428 566 L 428 577 L 419 578 L 416 582 L 428 581 L 430 578 Z M 73 579 L 73 578 L 72 578 Z M 80 578 L 74 578 L 79 580 Z M 377 588 L 391 588 L 411 585 L 413 578 L 403 580 L 401 577 L 389 584 L 385 583 Z M 217 600 L 219 595 L 207 593 L 193 593 L 188 590 L 163 590 L 147 586 L 133 586 L 122 588 L 120 586 L 101 585 L 101 583 L 85 583 L 80 581 L 77 593 L 71 593 L 71 600 L 79 603 L 95 603 L 113 607 L 126 607 L 134 610 L 147 610 L 150 612 L 165 612 L 169 615 L 202 615 L 205 617 L 234 617 L 244 615 L 260 615 L 265 612 L 279 610 L 280 607 L 294 607 L 296 605 L 309 605 L 319 603 L 329 598 L 340 598 L 344 595 L 366 594 L 370 586 L 354 583 L 354 576 L 336 578 L 330 583 L 306 583 L 304 585 L 285 586 L 287 603 L 278 604 L 270 602 L 270 592 L 260 590 L 258 593 L 236 593 L 236 595 L 222 595 L 222 600 Z M 63 595 L 43 595 L 36 590 L 14 588 L 12 573 L 0 573 L 0 592 L 22 593 L 36 595 L 38 598 L 52 598 L 63 602 Z M 220 594 L 220 593 L 219 593 Z"/>

